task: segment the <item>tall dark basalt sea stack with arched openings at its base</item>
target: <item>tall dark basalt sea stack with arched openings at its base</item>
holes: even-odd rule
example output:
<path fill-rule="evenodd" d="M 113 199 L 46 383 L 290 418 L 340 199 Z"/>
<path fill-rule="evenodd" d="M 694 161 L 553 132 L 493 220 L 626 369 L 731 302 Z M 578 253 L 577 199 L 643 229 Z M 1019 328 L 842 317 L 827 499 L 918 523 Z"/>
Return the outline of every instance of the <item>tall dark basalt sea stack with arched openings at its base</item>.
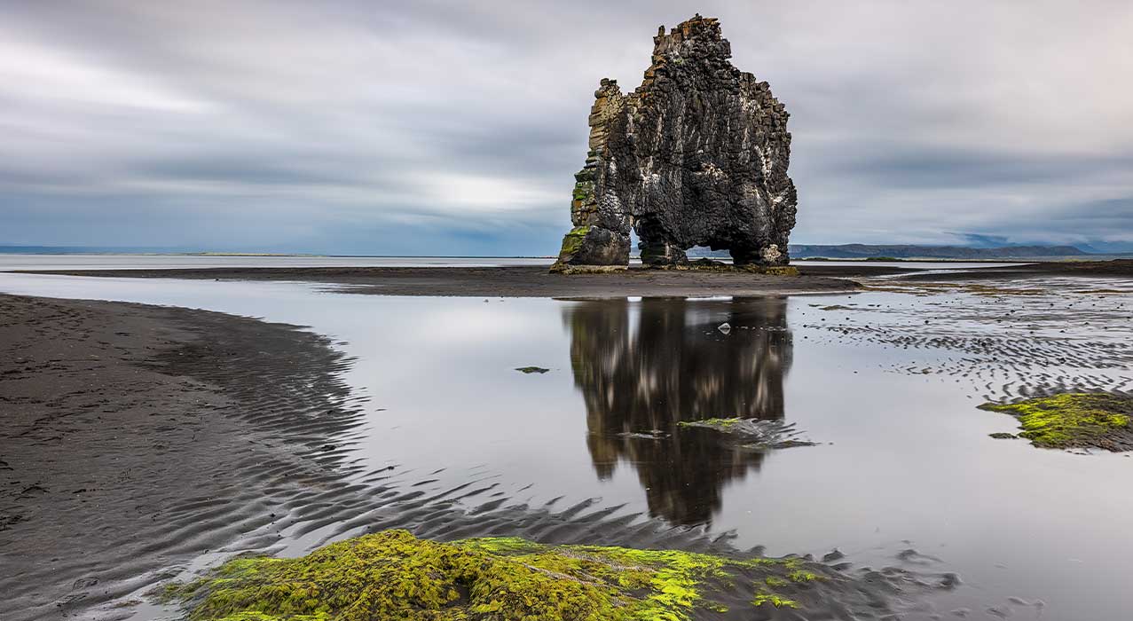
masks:
<path fill-rule="evenodd" d="M 653 41 L 641 86 L 627 95 L 603 79 L 595 92 L 574 228 L 553 270 L 627 265 L 631 229 L 647 265 L 685 263 L 693 246 L 785 265 L 798 198 L 783 104 L 732 66 L 714 18 L 662 26 Z"/>

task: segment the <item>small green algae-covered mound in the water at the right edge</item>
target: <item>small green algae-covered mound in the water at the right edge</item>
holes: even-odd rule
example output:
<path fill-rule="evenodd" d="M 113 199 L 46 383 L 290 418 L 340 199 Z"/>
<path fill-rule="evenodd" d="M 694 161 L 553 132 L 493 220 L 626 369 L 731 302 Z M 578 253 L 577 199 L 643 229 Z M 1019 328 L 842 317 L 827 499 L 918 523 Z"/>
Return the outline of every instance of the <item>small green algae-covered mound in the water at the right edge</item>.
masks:
<path fill-rule="evenodd" d="M 1066 392 L 1017 403 L 983 403 L 980 409 L 1019 418 L 1019 437 L 1046 449 L 1133 449 L 1133 398 L 1087 392 Z"/>

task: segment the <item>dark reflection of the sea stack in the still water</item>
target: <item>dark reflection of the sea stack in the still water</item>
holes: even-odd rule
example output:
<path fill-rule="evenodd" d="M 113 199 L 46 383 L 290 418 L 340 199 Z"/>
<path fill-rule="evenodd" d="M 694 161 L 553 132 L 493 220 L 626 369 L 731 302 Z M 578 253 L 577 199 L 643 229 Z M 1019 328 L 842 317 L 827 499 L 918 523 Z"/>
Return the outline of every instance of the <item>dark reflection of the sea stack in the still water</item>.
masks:
<path fill-rule="evenodd" d="M 625 460 L 651 514 L 682 525 L 710 521 L 723 485 L 758 468 L 763 454 L 678 423 L 783 418 L 792 351 L 786 300 L 583 303 L 569 307 L 564 321 L 598 476 L 608 478 Z M 716 330 L 724 322 L 729 334 Z M 667 436 L 619 435 L 653 429 Z"/>

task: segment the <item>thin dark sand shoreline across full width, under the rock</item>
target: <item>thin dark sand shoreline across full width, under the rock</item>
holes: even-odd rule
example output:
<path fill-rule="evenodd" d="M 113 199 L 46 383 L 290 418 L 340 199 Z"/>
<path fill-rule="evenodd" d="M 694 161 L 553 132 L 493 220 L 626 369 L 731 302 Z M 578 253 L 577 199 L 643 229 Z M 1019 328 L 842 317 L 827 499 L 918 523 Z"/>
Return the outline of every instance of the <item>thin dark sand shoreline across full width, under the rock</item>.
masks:
<path fill-rule="evenodd" d="M 14 270 L 3 273 L 88 278 L 188 279 L 308 282 L 335 291 L 381 296 L 437 297 L 761 297 L 841 294 L 864 289 L 854 279 L 898 277 L 902 281 L 949 281 L 1043 277 L 1133 277 L 1133 260 L 1028 263 L 999 267 L 922 270 L 894 265 L 800 265 L 799 275 L 632 266 L 605 273 L 553 274 L 543 265 L 494 267 L 184 267 L 107 270 Z"/>

